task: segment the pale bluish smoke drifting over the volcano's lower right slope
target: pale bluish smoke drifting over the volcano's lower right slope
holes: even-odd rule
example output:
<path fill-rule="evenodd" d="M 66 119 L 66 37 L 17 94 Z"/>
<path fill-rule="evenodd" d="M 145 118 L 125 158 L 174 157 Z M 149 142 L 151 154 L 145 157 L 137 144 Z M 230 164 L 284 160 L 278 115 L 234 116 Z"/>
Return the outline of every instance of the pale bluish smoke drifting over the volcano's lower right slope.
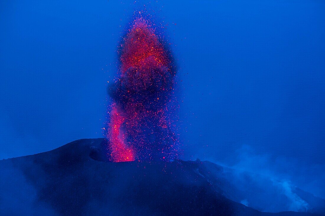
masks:
<path fill-rule="evenodd" d="M 264 212 L 325 212 L 321 196 L 324 167 L 307 167 L 293 159 L 257 154 L 248 145 L 235 155 L 237 162 L 225 173 L 236 188 L 237 202 Z"/>

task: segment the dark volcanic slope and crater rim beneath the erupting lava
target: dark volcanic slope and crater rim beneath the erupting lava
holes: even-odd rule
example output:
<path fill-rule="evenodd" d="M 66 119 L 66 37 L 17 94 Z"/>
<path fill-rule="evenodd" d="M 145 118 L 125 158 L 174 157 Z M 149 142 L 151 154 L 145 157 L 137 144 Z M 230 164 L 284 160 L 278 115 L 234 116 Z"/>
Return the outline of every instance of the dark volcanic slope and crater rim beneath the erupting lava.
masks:
<path fill-rule="evenodd" d="M 263 213 L 231 201 L 225 197 L 230 193 L 224 191 L 227 183 L 220 186 L 214 174 L 220 167 L 210 162 L 92 159 L 100 158 L 102 142 L 81 139 L 52 151 L 0 161 L 0 214 L 315 215 Z"/>

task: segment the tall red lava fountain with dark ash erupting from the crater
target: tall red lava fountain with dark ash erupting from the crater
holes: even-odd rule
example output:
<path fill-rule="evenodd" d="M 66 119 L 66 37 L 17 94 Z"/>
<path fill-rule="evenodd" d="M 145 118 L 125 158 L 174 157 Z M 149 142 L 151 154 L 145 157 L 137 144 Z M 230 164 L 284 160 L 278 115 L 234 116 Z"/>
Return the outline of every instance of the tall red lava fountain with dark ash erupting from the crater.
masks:
<path fill-rule="evenodd" d="M 172 55 L 153 24 L 131 24 L 118 51 L 119 77 L 108 86 L 112 98 L 106 128 L 112 162 L 170 161 L 178 156 Z"/>

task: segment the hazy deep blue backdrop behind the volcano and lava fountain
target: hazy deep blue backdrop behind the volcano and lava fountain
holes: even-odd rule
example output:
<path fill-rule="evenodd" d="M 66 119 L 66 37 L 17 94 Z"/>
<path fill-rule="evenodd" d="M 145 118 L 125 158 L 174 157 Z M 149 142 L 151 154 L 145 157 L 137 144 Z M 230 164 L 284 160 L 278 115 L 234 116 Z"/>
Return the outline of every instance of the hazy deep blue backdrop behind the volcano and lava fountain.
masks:
<path fill-rule="evenodd" d="M 116 49 L 145 1 L 0 2 L 0 158 L 102 137 Z M 325 2 L 158 1 L 179 79 L 184 159 L 325 198 Z"/>

